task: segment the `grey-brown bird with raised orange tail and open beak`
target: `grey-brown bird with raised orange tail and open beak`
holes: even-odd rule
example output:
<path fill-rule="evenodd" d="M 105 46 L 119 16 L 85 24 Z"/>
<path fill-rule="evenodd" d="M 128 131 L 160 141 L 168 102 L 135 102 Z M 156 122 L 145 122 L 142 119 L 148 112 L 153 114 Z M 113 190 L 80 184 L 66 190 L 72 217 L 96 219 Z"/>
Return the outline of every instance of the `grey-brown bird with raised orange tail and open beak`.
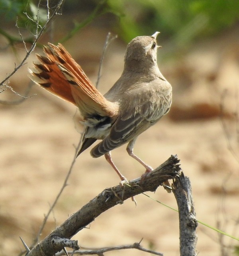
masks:
<path fill-rule="evenodd" d="M 38 63 L 29 69 L 32 81 L 78 107 L 84 132 L 76 157 L 101 140 L 90 155 L 104 155 L 122 182 L 127 179 L 114 164 L 111 151 L 128 143 L 127 153 L 145 167 L 141 177 L 147 176 L 153 168 L 133 153 L 135 141 L 168 113 L 172 103 L 172 87 L 157 65 L 158 34 L 138 36 L 128 43 L 123 72 L 105 95 L 60 43 L 43 46 L 44 55 L 36 54 Z"/>

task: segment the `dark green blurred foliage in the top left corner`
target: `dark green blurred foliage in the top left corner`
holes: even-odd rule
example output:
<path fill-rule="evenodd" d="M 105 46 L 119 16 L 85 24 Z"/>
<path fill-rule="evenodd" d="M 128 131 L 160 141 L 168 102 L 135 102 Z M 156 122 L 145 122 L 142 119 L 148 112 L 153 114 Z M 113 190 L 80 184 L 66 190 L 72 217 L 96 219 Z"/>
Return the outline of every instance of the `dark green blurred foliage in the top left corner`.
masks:
<path fill-rule="evenodd" d="M 110 9 L 107 5 L 108 0 L 97 0 L 97 1 L 74 1 L 68 0 L 64 2 L 64 10 L 68 13 L 80 13 L 86 12 L 86 18 L 77 22 L 72 20 L 74 28 L 66 32 L 64 38 L 59 41 L 63 42 L 74 36 L 79 30 L 90 24 L 98 16 L 106 14 L 108 12 L 114 13 L 113 9 Z M 59 4 L 59 0 L 0 0 L 0 14 L 2 20 L 0 21 L 0 34 L 2 34 L 10 45 L 14 46 L 15 43 L 22 42 L 22 38 L 13 36 L 9 33 L 9 28 L 14 28 L 13 24 L 17 24 L 19 28 L 24 30 L 24 35 L 29 35 L 27 39 L 24 38 L 25 42 L 32 43 L 35 40 L 35 33 L 45 25 L 47 22 L 47 12 L 49 10 L 49 16 Z M 49 7 L 49 8 L 48 8 Z M 116 14 L 117 16 L 117 14 Z M 15 30 L 15 34 L 18 30 Z M 19 33 L 18 33 L 19 34 Z"/>

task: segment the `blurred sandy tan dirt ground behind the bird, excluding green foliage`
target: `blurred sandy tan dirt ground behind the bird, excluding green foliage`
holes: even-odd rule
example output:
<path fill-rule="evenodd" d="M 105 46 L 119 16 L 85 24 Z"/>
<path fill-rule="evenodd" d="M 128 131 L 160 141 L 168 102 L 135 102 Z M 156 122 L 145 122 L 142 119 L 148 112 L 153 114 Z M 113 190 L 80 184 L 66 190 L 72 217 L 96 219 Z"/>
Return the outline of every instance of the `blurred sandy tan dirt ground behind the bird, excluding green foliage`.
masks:
<path fill-rule="evenodd" d="M 64 25 L 61 26 L 62 33 Z M 108 30 L 88 27 L 64 43 L 74 59 L 95 83 L 102 48 Z M 190 178 L 198 220 L 239 236 L 239 28 L 217 37 L 198 41 L 184 54 L 167 55 L 167 42 L 159 43 L 159 68 L 173 87 L 170 113 L 139 136 L 134 152 L 152 167 L 171 154 L 178 154 L 184 174 Z M 121 75 L 125 43 L 116 39 L 109 47 L 99 89 L 105 93 Z M 36 50 L 35 52 L 41 52 Z M 24 56 L 19 47 L 0 53 L 0 75 L 12 71 Z M 10 85 L 24 94 L 29 85 L 27 64 L 10 80 Z M 227 91 L 225 91 L 225 89 Z M 74 118 L 76 108 L 33 86 L 21 104 L 0 105 L 0 255 L 17 255 L 23 250 L 19 236 L 30 245 L 44 214 L 54 201 L 74 157 L 74 145 L 80 138 L 80 126 Z M 222 100 L 223 96 L 223 100 Z M 19 100 L 10 90 L 0 95 L 8 103 Z M 220 111 L 223 106 L 223 114 Z M 225 124 L 223 128 L 222 125 Z M 112 158 L 127 179 L 143 173 L 122 146 Z M 106 187 L 119 183 L 116 173 L 104 157 L 93 159 L 86 150 L 74 169 L 40 239 L 55 226 Z M 176 208 L 172 194 L 163 188 L 148 193 Z M 179 255 L 178 215 L 167 207 L 139 195 L 137 207 L 125 201 L 102 214 L 74 239 L 80 246 L 103 247 L 132 244 L 143 238 L 142 246 L 165 256 Z M 199 255 L 233 255 L 238 243 L 199 224 Z M 109 252 L 106 255 L 147 255 L 137 250 Z"/>

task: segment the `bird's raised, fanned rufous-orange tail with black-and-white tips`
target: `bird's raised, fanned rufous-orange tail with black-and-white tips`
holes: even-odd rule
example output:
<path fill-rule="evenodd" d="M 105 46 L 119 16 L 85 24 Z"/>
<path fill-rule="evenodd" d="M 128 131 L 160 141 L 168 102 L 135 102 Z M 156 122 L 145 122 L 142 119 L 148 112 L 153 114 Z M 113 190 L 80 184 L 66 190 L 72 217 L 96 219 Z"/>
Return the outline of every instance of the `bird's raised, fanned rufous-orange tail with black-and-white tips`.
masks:
<path fill-rule="evenodd" d="M 35 83 L 78 106 L 83 118 L 116 115 L 118 109 L 94 87 L 61 44 L 49 43 L 43 49 L 45 56 L 37 54 L 40 63 L 34 63 L 34 69 L 30 70 Z"/>

